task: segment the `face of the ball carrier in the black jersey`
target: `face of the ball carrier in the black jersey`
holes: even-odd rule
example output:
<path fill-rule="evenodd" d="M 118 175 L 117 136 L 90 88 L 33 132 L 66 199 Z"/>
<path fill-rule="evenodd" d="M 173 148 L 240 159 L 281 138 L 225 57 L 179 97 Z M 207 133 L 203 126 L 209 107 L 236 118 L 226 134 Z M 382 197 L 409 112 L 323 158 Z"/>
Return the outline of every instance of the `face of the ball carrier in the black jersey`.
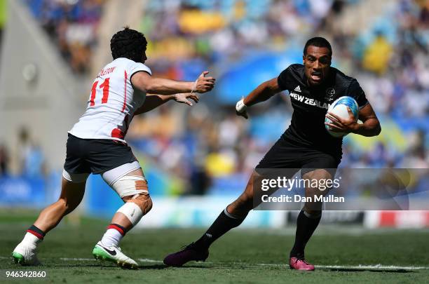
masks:
<path fill-rule="evenodd" d="M 310 85 L 317 86 L 327 78 L 331 65 L 328 48 L 308 46 L 307 53 L 303 55 L 302 60 L 304 72 Z"/>

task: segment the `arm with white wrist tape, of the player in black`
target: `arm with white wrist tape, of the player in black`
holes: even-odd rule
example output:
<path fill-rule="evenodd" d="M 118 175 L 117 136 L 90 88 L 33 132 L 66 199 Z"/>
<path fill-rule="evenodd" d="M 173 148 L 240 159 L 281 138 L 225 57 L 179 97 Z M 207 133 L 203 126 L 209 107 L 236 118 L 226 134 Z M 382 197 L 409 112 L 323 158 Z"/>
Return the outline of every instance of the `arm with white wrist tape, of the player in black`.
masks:
<path fill-rule="evenodd" d="M 257 88 L 252 90 L 252 92 L 250 92 L 247 97 L 237 102 L 236 114 L 239 116 L 243 116 L 245 119 L 247 119 L 247 107 L 250 107 L 253 104 L 257 104 L 258 102 L 264 102 L 273 95 L 280 93 L 280 91 L 281 89 L 278 86 L 277 78 L 273 78 L 269 81 L 261 83 L 261 85 L 257 86 Z"/>

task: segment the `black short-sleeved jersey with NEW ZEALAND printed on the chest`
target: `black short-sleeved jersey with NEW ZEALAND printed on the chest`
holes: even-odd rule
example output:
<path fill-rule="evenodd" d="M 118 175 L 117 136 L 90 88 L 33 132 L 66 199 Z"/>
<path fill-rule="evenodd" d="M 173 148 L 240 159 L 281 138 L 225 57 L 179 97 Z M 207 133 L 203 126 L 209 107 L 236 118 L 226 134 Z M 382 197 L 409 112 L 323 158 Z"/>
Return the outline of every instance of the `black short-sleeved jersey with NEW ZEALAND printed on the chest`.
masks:
<path fill-rule="evenodd" d="M 327 133 L 325 114 L 334 100 L 345 95 L 353 97 L 359 109 L 368 104 L 357 80 L 330 67 L 329 77 L 324 82 L 309 86 L 304 65 L 294 64 L 280 73 L 278 86 L 289 91 L 294 108 L 290 126 L 282 137 L 294 144 L 341 156 L 342 139 Z"/>

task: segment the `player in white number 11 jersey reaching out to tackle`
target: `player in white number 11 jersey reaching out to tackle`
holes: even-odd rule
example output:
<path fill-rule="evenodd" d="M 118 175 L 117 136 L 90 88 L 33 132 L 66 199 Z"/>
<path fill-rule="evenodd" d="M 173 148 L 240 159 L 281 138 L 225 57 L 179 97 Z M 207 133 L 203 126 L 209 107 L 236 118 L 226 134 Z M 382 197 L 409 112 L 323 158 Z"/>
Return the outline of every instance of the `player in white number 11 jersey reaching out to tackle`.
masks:
<path fill-rule="evenodd" d="M 114 60 L 94 80 L 88 107 L 69 131 L 60 198 L 41 211 L 13 250 L 15 263 L 39 264 L 37 245 L 81 203 L 86 179 L 93 173 L 101 174 L 124 201 L 95 245 L 93 255 L 125 268 L 137 268 L 137 262 L 121 252 L 119 242 L 151 210 L 152 201 L 142 168 L 124 140 L 130 121 L 134 115 L 168 100 L 192 105 L 187 99 L 198 102 L 195 93 L 212 90 L 215 80 L 205 76 L 208 72 L 194 82 L 152 77 L 144 65 L 147 40 L 128 27 L 114 34 L 110 47 Z"/>

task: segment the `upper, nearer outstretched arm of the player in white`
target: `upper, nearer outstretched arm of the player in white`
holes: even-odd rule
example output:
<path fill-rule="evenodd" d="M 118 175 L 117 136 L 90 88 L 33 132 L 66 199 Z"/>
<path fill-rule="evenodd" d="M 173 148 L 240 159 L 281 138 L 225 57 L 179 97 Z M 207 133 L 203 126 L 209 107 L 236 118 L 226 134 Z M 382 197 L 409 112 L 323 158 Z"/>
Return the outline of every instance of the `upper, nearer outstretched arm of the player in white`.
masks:
<path fill-rule="evenodd" d="M 205 71 L 195 82 L 175 81 L 156 78 L 146 72 L 138 72 L 131 77 L 132 86 L 146 93 L 155 95 L 173 95 L 176 93 L 206 93 L 214 87 L 214 79 Z"/>

